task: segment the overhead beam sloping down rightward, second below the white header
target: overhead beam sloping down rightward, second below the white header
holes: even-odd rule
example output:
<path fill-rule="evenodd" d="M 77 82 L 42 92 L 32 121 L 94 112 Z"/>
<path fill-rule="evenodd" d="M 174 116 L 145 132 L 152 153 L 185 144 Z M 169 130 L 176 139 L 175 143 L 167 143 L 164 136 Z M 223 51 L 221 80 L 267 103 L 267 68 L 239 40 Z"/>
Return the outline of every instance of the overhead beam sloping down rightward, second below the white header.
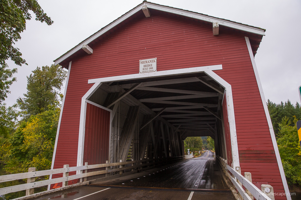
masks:
<path fill-rule="evenodd" d="M 178 89 L 168 89 L 168 88 L 154 88 L 154 87 L 139 87 L 137 90 L 146 90 L 146 91 L 157 91 L 157 92 L 170 92 L 170 93 L 179 93 L 179 94 L 199 94 L 206 97 L 217 97 L 218 93 L 215 92 L 200 92 L 200 91 L 191 91 L 191 90 L 178 90 Z"/>

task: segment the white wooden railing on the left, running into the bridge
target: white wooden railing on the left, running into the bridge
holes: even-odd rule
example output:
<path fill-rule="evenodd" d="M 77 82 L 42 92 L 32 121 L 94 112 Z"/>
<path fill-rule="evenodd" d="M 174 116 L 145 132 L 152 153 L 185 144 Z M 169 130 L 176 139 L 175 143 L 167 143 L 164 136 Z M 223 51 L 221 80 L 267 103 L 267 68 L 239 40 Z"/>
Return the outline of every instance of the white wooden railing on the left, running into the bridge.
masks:
<path fill-rule="evenodd" d="M 126 161 L 126 162 L 119 162 L 119 163 L 105 163 L 105 164 L 97 164 L 97 165 L 85 165 L 85 166 L 76 166 L 76 167 L 69 167 L 69 165 L 65 165 L 68 167 L 60 168 L 60 169 L 49 169 L 49 170 L 42 170 L 42 171 L 34 171 L 34 172 L 25 172 L 25 173 L 19 173 L 19 174 L 10 174 L 10 175 L 2 175 L 0 176 L 0 183 L 7 182 L 7 181 L 15 181 L 20 179 L 27 179 L 26 184 L 20 184 L 10 187 L 3 187 L 0 188 L 0 196 L 5 195 L 8 193 L 14 193 L 22 190 L 29 191 L 30 189 L 37 188 L 37 187 L 43 187 L 51 184 L 57 184 L 57 183 L 63 183 L 64 186 L 67 189 L 68 181 L 75 180 L 75 179 L 81 179 L 89 177 L 89 176 L 95 176 L 95 175 L 101 175 L 101 174 L 108 174 L 111 172 L 119 172 L 118 174 L 122 174 L 126 170 L 129 171 L 143 171 L 147 169 L 151 169 L 160 165 L 165 165 L 168 163 L 174 163 L 177 161 L 184 160 L 185 156 L 178 156 L 178 157 L 169 157 L 169 158 L 153 158 L 153 159 L 144 159 L 144 160 L 132 160 L 132 161 Z M 131 166 L 128 166 L 131 164 Z M 125 166 L 127 165 L 127 166 Z M 111 166 L 117 166 L 115 169 L 110 169 Z M 105 167 L 105 170 L 99 170 L 95 172 L 87 172 L 88 169 L 96 169 L 96 168 L 103 168 Z M 144 167 L 144 168 L 143 168 Z M 77 172 L 76 175 L 70 175 L 69 172 Z M 54 174 L 61 174 L 63 173 L 63 177 L 60 178 L 53 178 L 49 180 L 43 180 L 43 181 L 36 181 L 32 182 L 32 178 L 40 177 L 40 176 L 47 176 L 47 175 L 54 175 Z M 115 178 L 112 176 L 112 178 Z M 86 181 L 87 184 L 89 181 Z M 62 188 L 60 188 L 62 190 Z M 30 194 L 27 193 L 26 195 Z M 32 191 L 32 190 L 31 190 Z M 33 191 L 31 192 L 33 194 Z"/>

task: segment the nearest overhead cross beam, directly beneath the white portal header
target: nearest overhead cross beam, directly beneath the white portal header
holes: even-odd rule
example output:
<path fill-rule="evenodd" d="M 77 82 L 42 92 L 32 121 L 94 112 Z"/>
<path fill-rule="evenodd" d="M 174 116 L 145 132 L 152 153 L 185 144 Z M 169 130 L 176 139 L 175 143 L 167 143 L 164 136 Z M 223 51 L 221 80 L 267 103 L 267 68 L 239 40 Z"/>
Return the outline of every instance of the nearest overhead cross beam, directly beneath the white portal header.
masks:
<path fill-rule="evenodd" d="M 183 79 L 170 79 L 170 80 L 161 80 L 161 81 L 150 81 L 150 82 L 142 82 L 142 86 L 155 86 L 155 85 L 170 85 L 170 84 L 178 84 L 178 83 L 189 83 L 189 82 L 198 82 L 200 79 L 197 77 L 191 78 L 183 78 Z M 122 88 L 131 88 L 135 83 L 120 85 Z"/>

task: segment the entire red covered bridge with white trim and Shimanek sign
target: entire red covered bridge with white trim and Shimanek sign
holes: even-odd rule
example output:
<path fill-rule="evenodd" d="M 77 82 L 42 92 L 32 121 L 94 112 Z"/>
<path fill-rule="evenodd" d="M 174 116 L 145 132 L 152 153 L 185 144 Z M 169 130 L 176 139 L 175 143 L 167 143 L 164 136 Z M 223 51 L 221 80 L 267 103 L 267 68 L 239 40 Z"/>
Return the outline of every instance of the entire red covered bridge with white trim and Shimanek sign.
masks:
<path fill-rule="evenodd" d="M 179 157 L 211 136 L 229 166 L 289 193 L 254 60 L 264 32 L 147 1 L 125 13 L 55 60 L 68 76 L 51 169 Z"/>

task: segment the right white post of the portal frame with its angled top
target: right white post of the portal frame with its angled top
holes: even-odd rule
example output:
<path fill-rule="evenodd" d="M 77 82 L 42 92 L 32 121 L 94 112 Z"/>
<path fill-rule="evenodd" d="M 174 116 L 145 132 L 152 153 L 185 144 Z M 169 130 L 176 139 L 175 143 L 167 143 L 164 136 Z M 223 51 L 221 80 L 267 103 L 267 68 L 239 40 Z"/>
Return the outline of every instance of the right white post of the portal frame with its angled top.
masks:
<path fill-rule="evenodd" d="M 240 166 L 239 155 L 238 155 L 238 145 L 237 145 L 237 135 L 236 135 L 236 124 L 234 115 L 234 104 L 233 104 L 233 94 L 231 85 L 222 79 L 219 75 L 213 71 L 205 71 L 205 73 L 210 76 L 213 80 L 221 84 L 226 90 L 226 100 L 227 100 L 227 110 L 228 119 L 230 127 L 230 137 L 231 137 L 231 148 L 232 148 L 232 162 L 233 166 Z M 224 100 L 224 99 L 223 99 Z"/>

